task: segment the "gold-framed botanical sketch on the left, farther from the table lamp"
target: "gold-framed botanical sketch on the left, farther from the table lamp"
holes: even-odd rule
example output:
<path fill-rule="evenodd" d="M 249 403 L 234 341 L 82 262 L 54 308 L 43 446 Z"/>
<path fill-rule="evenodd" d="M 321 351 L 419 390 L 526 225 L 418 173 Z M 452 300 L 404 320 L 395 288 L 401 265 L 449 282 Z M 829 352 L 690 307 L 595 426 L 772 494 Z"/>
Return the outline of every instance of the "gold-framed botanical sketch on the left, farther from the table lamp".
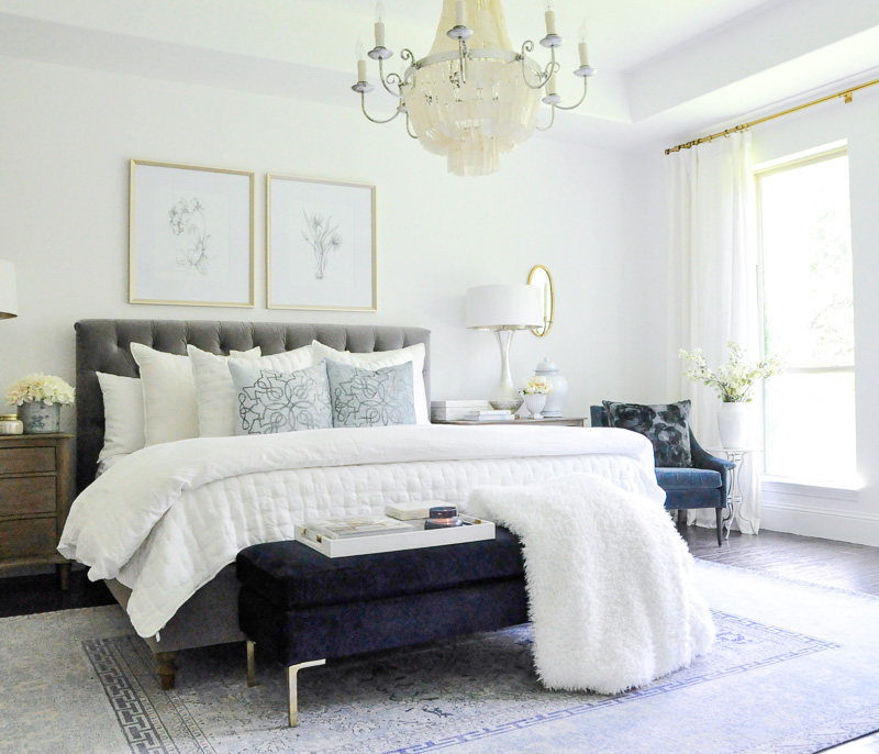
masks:
<path fill-rule="evenodd" d="M 253 173 L 131 160 L 129 301 L 254 306 Z"/>

